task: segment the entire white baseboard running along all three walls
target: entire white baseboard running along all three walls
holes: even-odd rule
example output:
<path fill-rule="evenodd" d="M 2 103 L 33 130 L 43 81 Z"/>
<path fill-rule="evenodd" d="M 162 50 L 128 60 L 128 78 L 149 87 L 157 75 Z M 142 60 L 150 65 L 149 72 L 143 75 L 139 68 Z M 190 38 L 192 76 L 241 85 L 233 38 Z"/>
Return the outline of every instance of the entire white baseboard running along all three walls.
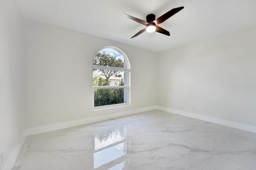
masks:
<path fill-rule="evenodd" d="M 98 117 L 91 117 L 91 118 L 87 118 L 87 119 L 67 121 L 67 122 L 63 122 L 63 123 L 57 123 L 57 124 L 52 124 L 52 125 L 45 125 L 45 126 L 33 127 L 33 128 L 26 129 L 24 131 L 23 135 L 22 135 L 22 138 L 19 141 L 19 144 L 13 150 L 11 156 L 9 157 L 8 161 L 6 162 L 6 166 L 4 167 L 4 170 L 11 170 L 12 169 L 12 167 L 13 167 L 15 161 L 16 161 L 16 158 L 17 158 L 17 156 L 20 152 L 20 149 L 21 149 L 21 147 L 22 147 L 22 145 L 23 145 L 23 143 L 26 139 L 26 136 L 35 135 L 35 134 L 44 133 L 44 132 L 49 132 L 49 131 L 54 131 L 54 130 L 58 130 L 58 129 L 64 129 L 64 128 L 68 128 L 68 127 L 84 125 L 84 124 L 87 124 L 87 123 L 93 123 L 93 122 L 97 122 L 97 121 L 104 121 L 104 120 L 107 120 L 107 119 L 113 119 L 113 118 L 116 118 L 116 117 L 132 115 L 132 114 L 135 114 L 135 113 L 140 113 L 140 112 L 143 112 L 143 111 L 149 111 L 149 110 L 153 110 L 153 109 L 168 111 L 168 112 L 171 112 L 171 113 L 176 113 L 176 114 L 179 114 L 179 115 L 184 115 L 184 116 L 192 117 L 192 118 L 195 118 L 195 119 L 209 121 L 209 122 L 212 122 L 212 123 L 225 125 L 225 126 L 229 126 L 229 127 L 234 127 L 236 129 L 241 129 L 241 130 L 244 130 L 244 131 L 250 131 L 250 132 L 256 133 L 256 126 L 252 126 L 252 125 L 246 125 L 246 124 L 242 124 L 242 123 L 226 121 L 226 120 L 223 120 L 223 119 L 218 119 L 218 118 L 209 117 L 209 116 L 205 116 L 205 115 L 199 115 L 199 114 L 190 113 L 190 112 L 187 112 L 187 111 L 171 109 L 171 108 L 162 107 L 162 106 L 143 107 L 143 108 L 140 108 L 140 109 L 134 109 L 134 110 L 124 111 L 124 112 L 110 114 L 110 115 L 102 115 L 102 116 L 98 116 Z"/>

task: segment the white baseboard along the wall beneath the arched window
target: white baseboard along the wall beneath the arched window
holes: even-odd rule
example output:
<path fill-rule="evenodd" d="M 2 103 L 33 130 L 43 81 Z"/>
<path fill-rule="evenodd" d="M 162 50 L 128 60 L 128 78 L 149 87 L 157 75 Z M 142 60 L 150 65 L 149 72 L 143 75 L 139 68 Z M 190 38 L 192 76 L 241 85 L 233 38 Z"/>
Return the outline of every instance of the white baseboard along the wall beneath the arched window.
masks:
<path fill-rule="evenodd" d="M 49 131 L 55 131 L 55 130 L 58 130 L 58 129 L 64 129 L 64 128 L 68 128 L 68 127 L 74 127 L 74 126 L 84 125 L 84 124 L 88 124 L 88 123 L 94 123 L 94 122 L 97 122 L 97 121 L 113 119 L 113 118 L 116 118 L 116 117 L 131 115 L 131 114 L 140 113 L 140 112 L 143 112 L 143 111 L 149 111 L 149 110 L 153 110 L 153 109 L 156 109 L 156 106 L 143 107 L 143 108 L 140 108 L 140 109 L 134 109 L 134 110 L 124 111 L 124 112 L 120 112 L 120 113 L 114 113 L 114 114 L 110 114 L 110 115 L 90 117 L 90 118 L 87 118 L 87 119 L 67 121 L 67 122 L 56 123 L 56 124 L 52 124 L 52 125 L 33 127 L 33 128 L 26 129 L 22 136 L 35 135 L 35 134 L 38 134 L 38 133 L 44 133 L 44 132 L 49 132 Z"/>

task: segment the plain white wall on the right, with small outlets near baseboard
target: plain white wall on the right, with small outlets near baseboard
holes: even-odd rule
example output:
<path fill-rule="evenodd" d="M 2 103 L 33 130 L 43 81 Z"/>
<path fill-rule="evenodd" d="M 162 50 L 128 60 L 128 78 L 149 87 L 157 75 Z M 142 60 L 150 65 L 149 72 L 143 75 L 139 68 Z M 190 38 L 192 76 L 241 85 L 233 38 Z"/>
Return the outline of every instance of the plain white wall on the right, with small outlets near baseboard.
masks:
<path fill-rule="evenodd" d="M 256 27 L 161 52 L 157 70 L 158 106 L 256 126 Z"/>

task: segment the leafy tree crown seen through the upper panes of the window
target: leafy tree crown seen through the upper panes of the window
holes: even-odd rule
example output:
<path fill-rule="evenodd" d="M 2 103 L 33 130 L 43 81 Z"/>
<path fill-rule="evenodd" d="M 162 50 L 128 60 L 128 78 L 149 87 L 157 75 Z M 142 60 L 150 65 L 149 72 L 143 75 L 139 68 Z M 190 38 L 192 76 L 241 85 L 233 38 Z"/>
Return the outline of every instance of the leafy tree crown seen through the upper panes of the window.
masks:
<path fill-rule="evenodd" d="M 101 53 L 101 52 L 98 52 L 95 55 L 95 57 L 93 59 L 93 65 L 124 68 L 124 62 L 122 61 L 122 59 L 117 58 L 108 53 Z M 98 69 L 94 69 L 94 70 L 98 70 Z M 119 70 L 104 70 L 104 69 L 99 69 L 99 70 L 106 77 L 106 82 L 108 82 L 110 76 L 117 76 L 120 72 L 122 72 Z"/>

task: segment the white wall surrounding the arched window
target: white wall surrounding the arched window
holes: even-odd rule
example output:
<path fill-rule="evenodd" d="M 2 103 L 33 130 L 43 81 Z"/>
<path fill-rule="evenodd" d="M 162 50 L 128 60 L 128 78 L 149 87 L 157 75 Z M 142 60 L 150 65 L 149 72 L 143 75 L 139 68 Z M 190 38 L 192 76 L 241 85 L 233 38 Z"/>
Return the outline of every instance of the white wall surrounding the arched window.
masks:
<path fill-rule="evenodd" d="M 26 128 L 155 105 L 156 53 L 29 19 L 24 37 Z M 92 61 L 106 46 L 130 60 L 131 106 L 92 111 Z"/>

